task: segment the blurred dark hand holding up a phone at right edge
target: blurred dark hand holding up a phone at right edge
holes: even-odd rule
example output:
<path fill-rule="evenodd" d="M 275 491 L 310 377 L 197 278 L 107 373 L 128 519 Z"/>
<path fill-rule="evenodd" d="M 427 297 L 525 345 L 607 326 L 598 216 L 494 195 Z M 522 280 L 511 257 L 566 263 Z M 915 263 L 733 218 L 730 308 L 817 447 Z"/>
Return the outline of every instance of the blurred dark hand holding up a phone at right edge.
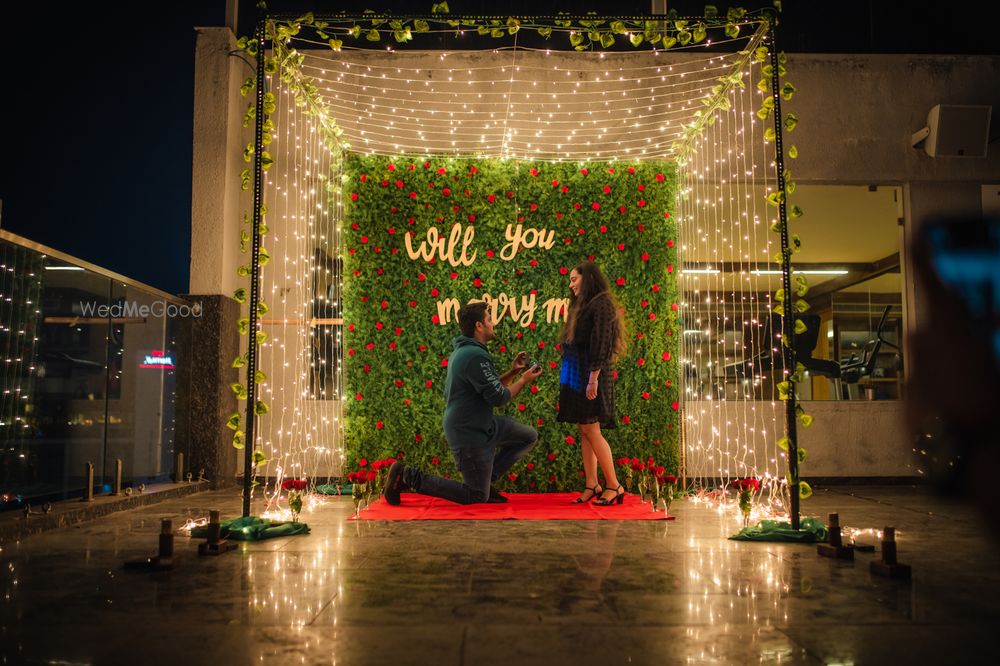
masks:
<path fill-rule="evenodd" d="M 1000 222 L 929 220 L 910 249 L 926 313 L 907 341 L 914 450 L 935 486 L 978 494 L 979 471 L 1000 465 L 1000 440 L 984 418 L 1000 404 Z M 982 499 L 992 506 L 992 497 Z M 987 516 L 996 522 L 994 513 Z"/>

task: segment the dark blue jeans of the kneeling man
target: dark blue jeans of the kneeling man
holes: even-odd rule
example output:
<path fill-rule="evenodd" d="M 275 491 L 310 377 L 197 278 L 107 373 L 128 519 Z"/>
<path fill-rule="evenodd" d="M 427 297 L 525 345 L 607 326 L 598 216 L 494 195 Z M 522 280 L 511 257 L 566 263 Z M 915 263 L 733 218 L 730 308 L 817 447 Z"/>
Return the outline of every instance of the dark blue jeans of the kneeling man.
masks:
<path fill-rule="evenodd" d="M 490 484 L 507 473 L 538 441 L 538 431 L 506 416 L 495 416 L 496 436 L 485 446 L 452 449 L 465 483 L 430 474 L 420 475 L 421 495 L 431 495 L 459 504 L 485 502 Z"/>

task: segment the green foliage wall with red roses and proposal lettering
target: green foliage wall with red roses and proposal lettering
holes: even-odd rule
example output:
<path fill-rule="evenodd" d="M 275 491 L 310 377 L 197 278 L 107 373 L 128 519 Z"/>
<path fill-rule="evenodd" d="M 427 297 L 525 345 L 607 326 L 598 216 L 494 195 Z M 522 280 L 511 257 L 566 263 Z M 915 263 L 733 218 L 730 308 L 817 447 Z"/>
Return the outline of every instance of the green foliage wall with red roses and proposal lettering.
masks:
<path fill-rule="evenodd" d="M 612 452 L 676 472 L 683 327 L 672 163 L 353 154 L 344 171 L 346 471 L 361 458 L 403 456 L 460 478 L 441 429 L 459 334 L 445 306 L 482 299 L 497 308 L 500 371 L 520 350 L 545 369 L 504 408 L 539 431 L 505 487 L 579 488 L 577 429 L 555 418 L 562 316 L 550 299 L 568 298 L 569 271 L 590 258 L 628 327 L 615 369 L 618 427 L 606 431 Z"/>

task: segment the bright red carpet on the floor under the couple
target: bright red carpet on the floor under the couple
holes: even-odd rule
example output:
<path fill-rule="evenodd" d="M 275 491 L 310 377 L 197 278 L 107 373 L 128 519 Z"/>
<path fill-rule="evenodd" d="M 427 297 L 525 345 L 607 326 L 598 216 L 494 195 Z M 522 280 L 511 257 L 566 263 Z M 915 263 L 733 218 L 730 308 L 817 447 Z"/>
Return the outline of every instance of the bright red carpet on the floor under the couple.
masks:
<path fill-rule="evenodd" d="M 455 504 L 437 497 L 403 493 L 399 506 L 379 498 L 348 520 L 673 520 L 638 495 L 626 495 L 624 503 L 595 506 L 573 504 L 579 493 L 516 493 L 506 504 Z"/>

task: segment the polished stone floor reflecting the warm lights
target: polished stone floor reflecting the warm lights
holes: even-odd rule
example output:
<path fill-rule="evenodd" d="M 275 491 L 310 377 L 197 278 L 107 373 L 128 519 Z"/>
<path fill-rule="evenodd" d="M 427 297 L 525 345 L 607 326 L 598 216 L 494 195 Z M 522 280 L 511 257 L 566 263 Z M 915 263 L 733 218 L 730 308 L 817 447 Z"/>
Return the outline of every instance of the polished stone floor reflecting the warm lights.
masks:
<path fill-rule="evenodd" d="M 6 543 L 0 663 L 977 664 L 1000 648 L 997 535 L 905 487 L 818 489 L 811 515 L 898 531 L 913 580 L 875 555 L 725 537 L 737 518 L 672 522 L 354 522 L 331 498 L 309 536 L 124 571 L 175 525 L 239 512 L 203 492 Z"/>

